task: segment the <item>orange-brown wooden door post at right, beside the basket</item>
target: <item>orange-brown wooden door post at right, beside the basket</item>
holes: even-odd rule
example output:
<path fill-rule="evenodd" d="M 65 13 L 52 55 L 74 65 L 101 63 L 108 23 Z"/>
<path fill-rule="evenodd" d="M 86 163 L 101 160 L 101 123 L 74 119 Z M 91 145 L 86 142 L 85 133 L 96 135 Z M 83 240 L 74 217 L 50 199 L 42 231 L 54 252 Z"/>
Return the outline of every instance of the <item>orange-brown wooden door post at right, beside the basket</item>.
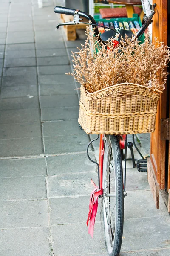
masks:
<path fill-rule="evenodd" d="M 167 44 L 167 0 L 154 0 L 156 14 L 153 18 L 153 42 L 157 37 L 159 41 Z M 165 140 L 160 139 L 160 119 L 166 118 L 166 90 L 161 94 L 158 114 L 156 118 L 156 131 L 151 135 L 150 159 L 159 183 L 160 189 L 165 187 Z"/>

